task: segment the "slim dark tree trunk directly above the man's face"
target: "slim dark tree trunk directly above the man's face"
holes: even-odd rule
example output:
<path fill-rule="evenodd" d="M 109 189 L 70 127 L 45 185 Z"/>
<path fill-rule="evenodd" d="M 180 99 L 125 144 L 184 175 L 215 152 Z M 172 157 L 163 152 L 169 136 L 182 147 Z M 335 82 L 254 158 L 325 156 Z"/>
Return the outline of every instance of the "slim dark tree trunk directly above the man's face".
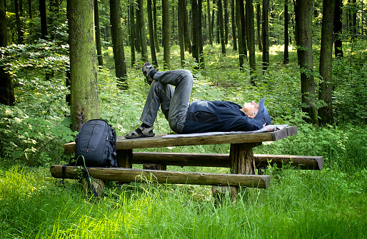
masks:
<path fill-rule="evenodd" d="M 250 63 L 251 84 L 255 85 L 254 77 L 256 71 L 256 56 L 255 56 L 255 16 L 253 14 L 252 0 L 246 0 L 246 14 L 248 15 L 248 61 Z"/>

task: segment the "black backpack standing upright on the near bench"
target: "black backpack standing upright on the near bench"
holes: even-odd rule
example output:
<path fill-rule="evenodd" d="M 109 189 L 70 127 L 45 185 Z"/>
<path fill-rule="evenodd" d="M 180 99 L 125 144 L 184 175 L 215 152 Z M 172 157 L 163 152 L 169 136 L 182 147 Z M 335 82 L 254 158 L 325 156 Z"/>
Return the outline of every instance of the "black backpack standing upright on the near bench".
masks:
<path fill-rule="evenodd" d="M 75 139 L 75 158 L 76 166 L 118 167 L 114 128 L 101 119 L 84 123 Z"/>

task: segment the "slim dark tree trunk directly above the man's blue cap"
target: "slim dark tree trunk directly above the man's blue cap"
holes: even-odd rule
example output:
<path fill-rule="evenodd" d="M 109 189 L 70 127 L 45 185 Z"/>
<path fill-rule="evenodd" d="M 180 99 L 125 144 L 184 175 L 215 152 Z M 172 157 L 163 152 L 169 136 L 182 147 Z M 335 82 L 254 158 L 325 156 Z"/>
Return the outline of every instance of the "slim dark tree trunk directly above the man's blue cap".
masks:
<path fill-rule="evenodd" d="M 269 0 L 263 0 L 261 37 L 263 42 L 263 73 L 269 66 Z"/>

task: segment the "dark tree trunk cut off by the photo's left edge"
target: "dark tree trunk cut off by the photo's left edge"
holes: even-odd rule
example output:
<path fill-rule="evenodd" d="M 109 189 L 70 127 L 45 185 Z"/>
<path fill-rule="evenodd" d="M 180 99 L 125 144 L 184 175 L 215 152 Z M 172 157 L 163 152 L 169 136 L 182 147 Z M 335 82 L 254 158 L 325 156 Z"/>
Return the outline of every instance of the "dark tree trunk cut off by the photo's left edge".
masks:
<path fill-rule="evenodd" d="M 0 47 L 8 45 L 8 28 L 6 24 L 5 0 L 0 0 Z M 1 52 L 1 58 L 6 58 Z M 13 106 L 15 101 L 13 80 L 4 67 L 0 67 L 0 103 Z"/>

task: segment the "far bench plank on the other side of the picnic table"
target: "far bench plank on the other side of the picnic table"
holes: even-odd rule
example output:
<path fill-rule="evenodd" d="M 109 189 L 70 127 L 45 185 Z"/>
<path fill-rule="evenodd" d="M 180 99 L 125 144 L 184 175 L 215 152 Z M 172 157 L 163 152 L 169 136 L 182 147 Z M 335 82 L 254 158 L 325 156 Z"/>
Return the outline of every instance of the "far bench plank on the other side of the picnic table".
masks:
<path fill-rule="evenodd" d="M 291 163 L 292 167 L 310 170 L 323 169 L 322 156 L 290 156 L 253 154 L 256 168 L 265 168 L 268 162 L 276 163 L 278 168 L 283 163 Z M 167 166 L 201 166 L 201 167 L 229 167 L 228 153 L 154 153 L 134 152 L 133 163 L 158 163 Z"/>

